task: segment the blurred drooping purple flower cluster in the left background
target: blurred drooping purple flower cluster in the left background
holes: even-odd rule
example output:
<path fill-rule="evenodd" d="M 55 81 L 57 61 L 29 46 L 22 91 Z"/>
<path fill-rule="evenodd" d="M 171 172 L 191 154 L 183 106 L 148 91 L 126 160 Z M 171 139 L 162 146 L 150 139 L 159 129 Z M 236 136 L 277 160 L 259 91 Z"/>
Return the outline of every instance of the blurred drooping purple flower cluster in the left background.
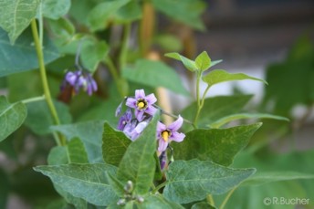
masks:
<path fill-rule="evenodd" d="M 78 94 L 79 89 L 88 92 L 89 96 L 97 91 L 97 83 L 89 72 L 81 69 L 76 71 L 68 71 L 61 85 L 61 90 L 70 86 L 74 89 L 74 93 Z"/>

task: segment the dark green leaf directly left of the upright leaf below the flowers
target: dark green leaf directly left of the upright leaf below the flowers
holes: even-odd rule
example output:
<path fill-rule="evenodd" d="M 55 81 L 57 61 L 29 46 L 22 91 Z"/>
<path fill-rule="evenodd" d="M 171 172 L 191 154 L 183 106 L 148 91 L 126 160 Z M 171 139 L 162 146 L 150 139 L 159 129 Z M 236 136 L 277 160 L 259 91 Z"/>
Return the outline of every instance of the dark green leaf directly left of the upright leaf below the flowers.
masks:
<path fill-rule="evenodd" d="M 121 131 L 115 131 L 105 122 L 102 134 L 102 156 L 104 162 L 118 166 L 131 140 Z"/>

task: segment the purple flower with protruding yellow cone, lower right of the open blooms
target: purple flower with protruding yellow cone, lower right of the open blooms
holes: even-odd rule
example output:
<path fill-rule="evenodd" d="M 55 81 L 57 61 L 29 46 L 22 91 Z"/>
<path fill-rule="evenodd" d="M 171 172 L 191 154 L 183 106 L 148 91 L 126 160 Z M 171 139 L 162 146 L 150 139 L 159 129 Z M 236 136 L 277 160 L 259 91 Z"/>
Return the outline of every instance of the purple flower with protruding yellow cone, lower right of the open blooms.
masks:
<path fill-rule="evenodd" d="M 167 149 L 168 144 L 171 141 L 181 142 L 183 141 L 185 134 L 178 132 L 183 124 L 183 118 L 179 115 L 179 118 L 175 120 L 168 127 L 162 122 L 157 124 L 157 140 L 159 141 L 158 152 L 164 152 Z"/>

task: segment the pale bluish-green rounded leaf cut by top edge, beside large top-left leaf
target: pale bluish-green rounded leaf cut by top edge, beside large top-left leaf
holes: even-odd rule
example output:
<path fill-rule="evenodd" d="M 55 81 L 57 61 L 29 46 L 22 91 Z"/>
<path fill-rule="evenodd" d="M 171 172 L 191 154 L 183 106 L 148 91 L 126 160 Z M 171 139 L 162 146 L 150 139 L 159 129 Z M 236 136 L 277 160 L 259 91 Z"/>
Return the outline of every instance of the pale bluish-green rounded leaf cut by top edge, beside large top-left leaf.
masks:
<path fill-rule="evenodd" d="M 57 20 L 61 16 L 65 16 L 68 13 L 71 6 L 70 0 L 42 0 L 41 1 L 41 13 L 43 16 Z"/>

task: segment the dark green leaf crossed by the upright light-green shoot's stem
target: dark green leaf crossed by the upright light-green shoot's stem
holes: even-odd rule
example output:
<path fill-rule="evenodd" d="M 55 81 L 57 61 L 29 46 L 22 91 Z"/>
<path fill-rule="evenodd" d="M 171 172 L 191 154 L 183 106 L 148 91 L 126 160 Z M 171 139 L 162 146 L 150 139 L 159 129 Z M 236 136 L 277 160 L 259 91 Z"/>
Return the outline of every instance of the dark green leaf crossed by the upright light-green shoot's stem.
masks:
<path fill-rule="evenodd" d="M 242 110 L 252 95 L 219 96 L 204 100 L 198 124 L 205 126 Z M 194 102 L 182 111 L 184 119 L 194 120 L 197 103 Z"/>

